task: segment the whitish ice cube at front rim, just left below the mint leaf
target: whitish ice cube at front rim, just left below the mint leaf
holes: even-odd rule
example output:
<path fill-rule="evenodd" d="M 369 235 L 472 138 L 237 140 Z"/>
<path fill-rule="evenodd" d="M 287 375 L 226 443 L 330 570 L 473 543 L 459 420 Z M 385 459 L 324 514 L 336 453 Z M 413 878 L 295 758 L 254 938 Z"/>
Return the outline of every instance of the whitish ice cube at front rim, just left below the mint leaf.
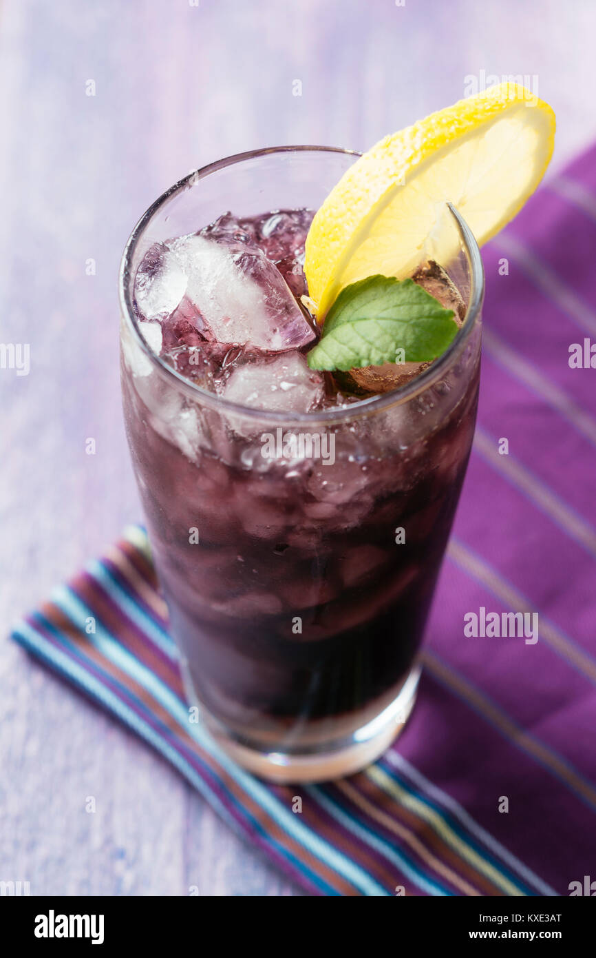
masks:
<path fill-rule="evenodd" d="M 323 397 L 320 373 L 300 353 L 288 353 L 236 366 L 223 387 L 224 399 L 253 409 L 306 413 Z"/>

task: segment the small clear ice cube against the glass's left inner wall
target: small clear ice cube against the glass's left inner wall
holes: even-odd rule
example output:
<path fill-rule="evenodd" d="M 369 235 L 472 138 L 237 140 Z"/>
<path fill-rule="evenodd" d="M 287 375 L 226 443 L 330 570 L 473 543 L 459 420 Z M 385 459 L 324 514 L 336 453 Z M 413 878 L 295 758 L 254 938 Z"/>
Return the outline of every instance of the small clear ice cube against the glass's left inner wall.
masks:
<path fill-rule="evenodd" d="M 135 299 L 144 319 L 165 319 L 180 304 L 187 276 L 165 243 L 145 254 L 135 277 Z"/>

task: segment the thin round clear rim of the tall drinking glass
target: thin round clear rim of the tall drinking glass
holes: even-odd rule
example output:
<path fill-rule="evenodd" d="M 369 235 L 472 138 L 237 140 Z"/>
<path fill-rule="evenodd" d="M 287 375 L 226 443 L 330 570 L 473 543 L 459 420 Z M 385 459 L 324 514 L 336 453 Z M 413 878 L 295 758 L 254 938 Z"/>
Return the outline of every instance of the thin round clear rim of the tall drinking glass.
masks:
<path fill-rule="evenodd" d="M 356 158 L 362 156 L 362 153 L 355 149 L 344 149 L 342 147 L 266 147 L 247 150 L 243 153 L 233 153 L 232 156 L 226 156 L 221 160 L 216 160 L 214 163 L 209 163 L 198 170 L 188 173 L 188 175 L 183 177 L 183 179 L 178 180 L 178 182 L 174 183 L 173 186 L 169 187 L 165 193 L 163 193 L 161 196 L 158 196 L 158 198 L 147 208 L 147 210 L 145 210 L 143 216 L 139 219 L 126 241 L 126 245 L 124 246 L 124 250 L 122 252 L 119 270 L 121 313 L 128 324 L 129 330 L 132 331 L 137 344 L 141 347 L 147 358 L 156 367 L 157 371 L 161 375 L 166 376 L 166 379 L 169 379 L 172 385 L 175 385 L 176 388 L 182 390 L 183 393 L 193 397 L 195 400 L 200 399 L 201 402 L 210 406 L 212 409 L 226 410 L 228 413 L 233 413 L 237 416 L 244 416 L 247 419 L 253 419 L 259 422 L 276 423 L 276 425 L 296 425 L 298 423 L 307 423 L 312 425 L 318 422 L 345 422 L 364 416 L 369 416 L 377 411 L 388 409 L 394 405 L 401 405 L 402 403 L 407 402 L 409 399 L 412 399 L 414 396 L 417 396 L 419 393 L 424 392 L 437 379 L 440 379 L 441 376 L 444 375 L 446 369 L 450 366 L 453 355 L 460 351 L 475 328 L 475 320 L 478 316 L 480 308 L 482 307 L 482 301 L 484 298 L 484 269 L 475 236 L 464 218 L 455 209 L 453 203 L 447 202 L 446 205 L 448 206 L 455 220 L 455 225 L 458 229 L 461 239 L 463 240 L 464 247 L 471 265 L 470 302 L 468 304 L 468 308 L 466 309 L 466 315 L 464 316 L 460 329 L 457 331 L 457 334 L 454 336 L 445 353 L 439 356 L 438 359 L 436 359 L 428 369 L 420 373 L 419 376 L 416 376 L 409 382 L 405 383 L 405 385 L 400 386 L 398 389 L 392 390 L 388 393 L 379 393 L 376 396 L 371 396 L 367 399 L 358 399 L 356 402 L 339 408 L 317 409 L 313 410 L 312 412 L 296 412 L 292 414 L 276 412 L 275 410 L 271 409 L 255 409 L 254 406 L 244 406 L 238 402 L 232 402 L 230 399 L 223 399 L 223 397 L 217 396 L 215 393 L 210 393 L 209 390 L 204 389 L 202 386 L 199 386 L 191 380 L 185 378 L 185 376 L 182 376 L 175 369 L 169 366 L 161 356 L 157 355 L 151 350 L 149 344 L 146 342 L 141 330 L 139 329 L 139 323 L 137 321 L 132 303 L 132 284 L 130 282 L 132 258 L 137 249 L 138 242 L 143 236 L 145 227 L 169 199 L 177 194 L 183 193 L 188 188 L 196 189 L 198 180 L 205 179 L 210 175 L 210 173 L 224 170 L 226 167 L 233 166 L 237 163 L 242 163 L 245 160 L 253 160 L 255 158 L 268 156 L 271 154 L 298 152 L 342 153 L 344 155 L 354 156 Z"/>

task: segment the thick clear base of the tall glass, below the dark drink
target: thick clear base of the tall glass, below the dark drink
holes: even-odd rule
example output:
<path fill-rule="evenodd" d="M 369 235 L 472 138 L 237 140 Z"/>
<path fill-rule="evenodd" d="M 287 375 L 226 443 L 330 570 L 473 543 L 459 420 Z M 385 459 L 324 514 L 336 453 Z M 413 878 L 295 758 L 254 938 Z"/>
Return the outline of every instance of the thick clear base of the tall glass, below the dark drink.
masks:
<path fill-rule="evenodd" d="M 308 749 L 283 751 L 254 747 L 215 719 L 198 704 L 203 726 L 221 748 L 239 765 L 259 778 L 277 784 L 299 782 L 329 782 L 361 771 L 382 755 L 402 732 L 416 701 L 420 666 L 415 665 L 402 685 L 399 694 L 373 719 L 349 737 L 334 741 L 319 741 Z M 183 668 L 187 691 L 191 692 L 188 671 Z M 196 703 L 196 696 L 189 700 Z"/>

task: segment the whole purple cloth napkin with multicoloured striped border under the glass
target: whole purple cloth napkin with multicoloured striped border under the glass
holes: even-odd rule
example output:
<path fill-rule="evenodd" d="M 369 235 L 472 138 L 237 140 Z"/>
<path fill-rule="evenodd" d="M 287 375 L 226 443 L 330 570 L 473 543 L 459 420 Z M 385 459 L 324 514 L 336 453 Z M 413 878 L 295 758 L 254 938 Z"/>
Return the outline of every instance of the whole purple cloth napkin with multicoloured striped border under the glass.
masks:
<path fill-rule="evenodd" d="M 593 149 L 485 250 L 478 429 L 418 703 L 364 772 L 264 785 L 188 723 L 140 527 L 13 633 L 310 894 L 549 896 L 596 879 L 596 369 L 569 365 L 596 341 L 595 251 Z M 465 635 L 481 609 L 538 613 L 538 642 Z"/>

